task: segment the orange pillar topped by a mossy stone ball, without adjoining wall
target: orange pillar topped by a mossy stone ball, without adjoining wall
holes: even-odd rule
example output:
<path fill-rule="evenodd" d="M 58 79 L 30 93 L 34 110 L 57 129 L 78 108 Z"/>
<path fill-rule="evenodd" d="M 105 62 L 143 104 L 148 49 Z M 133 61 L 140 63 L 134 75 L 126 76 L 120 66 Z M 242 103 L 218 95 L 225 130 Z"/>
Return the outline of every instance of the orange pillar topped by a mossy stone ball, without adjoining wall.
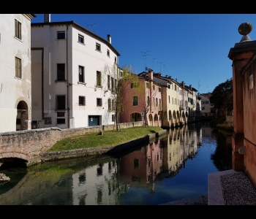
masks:
<path fill-rule="evenodd" d="M 239 26 L 238 32 L 244 37 L 242 37 L 241 42 L 236 43 L 235 47 L 230 49 L 228 54 L 228 58 L 233 61 L 234 132 L 232 137 L 232 163 L 235 171 L 244 171 L 244 155 L 238 153 L 239 148 L 244 147 L 244 77 L 241 73 L 256 50 L 256 41 L 252 41 L 246 35 L 250 31 L 252 31 L 252 26 L 250 27 L 249 23 L 243 23 Z"/>

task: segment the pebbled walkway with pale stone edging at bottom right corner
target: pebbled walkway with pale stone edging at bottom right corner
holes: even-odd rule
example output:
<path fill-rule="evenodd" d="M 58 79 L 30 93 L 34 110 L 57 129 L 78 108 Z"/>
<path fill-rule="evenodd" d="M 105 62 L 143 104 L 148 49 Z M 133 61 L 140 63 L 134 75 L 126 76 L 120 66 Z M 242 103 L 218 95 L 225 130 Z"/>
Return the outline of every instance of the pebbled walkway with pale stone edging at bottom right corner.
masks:
<path fill-rule="evenodd" d="M 208 174 L 208 193 L 162 205 L 256 205 L 256 188 L 244 172 L 233 169 Z"/>

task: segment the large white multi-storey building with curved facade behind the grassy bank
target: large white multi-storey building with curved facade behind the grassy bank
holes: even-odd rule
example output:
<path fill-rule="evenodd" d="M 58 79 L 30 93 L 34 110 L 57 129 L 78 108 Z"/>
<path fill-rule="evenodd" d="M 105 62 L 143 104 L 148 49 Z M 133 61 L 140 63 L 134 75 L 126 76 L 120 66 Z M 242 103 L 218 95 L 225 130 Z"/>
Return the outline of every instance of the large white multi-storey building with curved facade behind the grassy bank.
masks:
<path fill-rule="evenodd" d="M 31 23 L 32 128 L 114 123 L 118 51 L 73 21 Z"/>

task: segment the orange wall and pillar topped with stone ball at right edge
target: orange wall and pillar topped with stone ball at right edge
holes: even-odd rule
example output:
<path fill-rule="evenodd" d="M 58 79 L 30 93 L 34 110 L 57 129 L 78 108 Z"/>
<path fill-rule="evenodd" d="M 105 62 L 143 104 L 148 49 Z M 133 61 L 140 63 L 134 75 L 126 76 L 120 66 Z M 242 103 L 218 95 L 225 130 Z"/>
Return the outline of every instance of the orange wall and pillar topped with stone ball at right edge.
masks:
<path fill-rule="evenodd" d="M 244 36 L 228 58 L 233 61 L 233 169 L 245 172 L 256 187 L 256 41 L 247 35 L 250 31 L 248 22 L 239 26 Z"/>

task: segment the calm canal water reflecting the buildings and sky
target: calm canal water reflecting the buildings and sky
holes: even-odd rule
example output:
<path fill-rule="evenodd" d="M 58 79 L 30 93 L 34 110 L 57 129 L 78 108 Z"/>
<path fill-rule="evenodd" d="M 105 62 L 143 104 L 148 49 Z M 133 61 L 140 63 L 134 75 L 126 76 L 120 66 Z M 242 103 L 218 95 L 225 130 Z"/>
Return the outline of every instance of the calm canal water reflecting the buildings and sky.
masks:
<path fill-rule="evenodd" d="M 152 205 L 208 193 L 208 174 L 232 169 L 231 136 L 209 123 L 170 129 L 119 154 L 0 169 L 0 204 Z"/>

